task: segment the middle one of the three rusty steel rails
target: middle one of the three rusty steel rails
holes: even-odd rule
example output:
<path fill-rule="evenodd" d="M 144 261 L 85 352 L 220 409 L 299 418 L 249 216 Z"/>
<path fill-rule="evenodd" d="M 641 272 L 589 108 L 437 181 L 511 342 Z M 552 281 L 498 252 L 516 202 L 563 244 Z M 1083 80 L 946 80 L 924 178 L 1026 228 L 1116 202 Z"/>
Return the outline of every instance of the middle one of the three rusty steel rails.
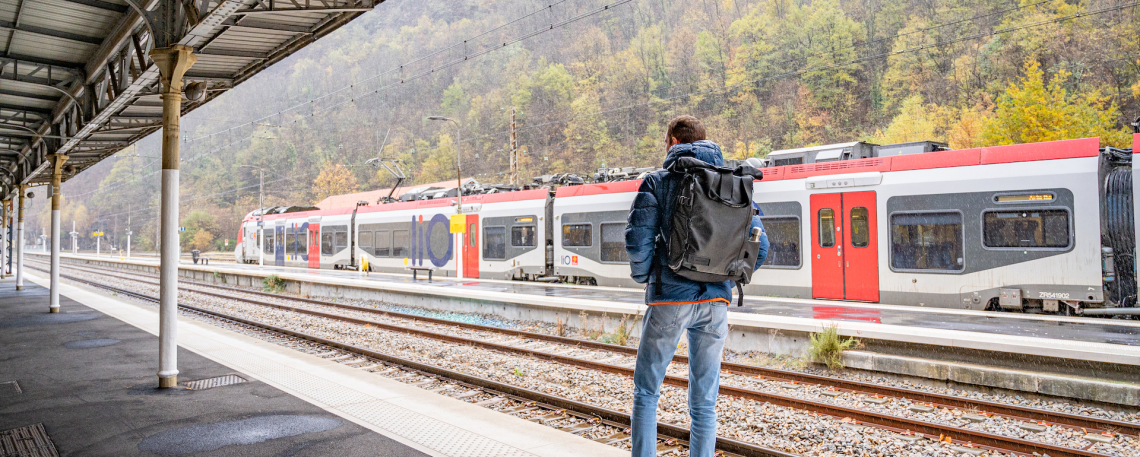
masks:
<path fill-rule="evenodd" d="M 114 275 L 109 275 L 109 276 L 114 276 Z M 120 277 L 120 278 L 122 278 L 122 277 Z M 129 279 L 129 280 L 136 280 L 136 281 L 139 281 L 139 283 L 146 283 L 146 281 L 142 281 L 140 279 Z M 557 356 L 557 354 L 540 352 L 540 351 L 536 351 L 536 350 L 531 350 L 531 349 L 516 348 L 516 346 L 511 346 L 511 345 L 505 345 L 505 344 L 497 344 L 497 343 L 492 343 L 492 342 L 487 342 L 487 341 L 481 341 L 481 340 L 473 340 L 473 338 L 466 338 L 466 337 L 462 337 L 462 336 L 442 335 L 442 334 L 434 333 L 434 332 L 422 330 L 422 329 L 416 329 L 416 328 L 408 328 L 408 327 L 401 327 L 401 326 L 385 324 L 385 323 L 380 323 L 380 321 L 369 320 L 369 319 L 359 319 L 359 318 L 353 318 L 353 317 L 348 317 L 348 316 L 342 316 L 342 315 L 335 315 L 335 313 L 321 312 L 321 311 L 309 310 L 309 309 L 303 309 L 303 308 L 290 307 L 290 305 L 285 305 L 285 304 L 259 302 L 259 301 L 254 301 L 254 300 L 250 300 L 250 299 L 242 299 L 242 297 L 236 297 L 236 296 L 233 296 L 233 295 L 217 294 L 217 293 L 212 293 L 212 292 L 204 292 L 204 291 L 187 291 L 187 292 L 199 293 L 199 294 L 204 294 L 204 295 L 209 295 L 209 296 L 215 296 L 215 297 L 221 297 L 221 299 L 227 299 L 227 300 L 236 300 L 236 301 L 239 301 L 239 302 L 251 303 L 251 304 L 255 304 L 255 305 L 262 305 L 262 307 L 267 307 L 267 308 L 275 308 L 275 309 L 280 309 L 280 310 L 287 310 L 287 311 L 291 311 L 291 312 L 298 312 L 298 313 L 303 313 L 303 315 L 309 315 L 309 316 L 316 316 L 316 317 L 321 317 L 321 318 L 333 319 L 333 320 L 341 320 L 341 321 L 352 323 L 352 324 L 357 324 L 357 325 L 375 326 L 377 328 L 382 328 L 382 329 L 390 330 L 390 332 L 412 334 L 412 335 L 424 336 L 424 337 L 430 337 L 430 338 L 440 340 L 440 341 L 447 341 L 447 342 L 453 342 L 453 343 L 459 343 L 459 344 L 467 344 L 467 345 L 473 345 L 473 346 L 481 346 L 481 348 L 486 348 L 486 349 L 490 349 L 490 350 L 497 350 L 497 351 L 503 351 L 503 352 L 526 354 L 526 356 L 535 357 L 535 358 L 538 358 L 538 359 L 551 360 L 551 361 L 555 361 L 555 362 L 563 364 L 563 365 L 578 366 L 578 367 L 583 367 L 583 368 L 587 368 L 587 369 L 593 369 L 593 370 L 598 370 L 598 372 L 613 373 L 613 374 L 619 374 L 619 375 L 625 375 L 625 376 L 633 376 L 633 373 L 634 373 L 633 369 L 620 367 L 620 366 L 614 366 L 614 365 L 609 365 L 609 364 L 601 364 L 601 362 L 589 361 L 589 360 L 583 360 L 583 359 L 576 359 L 576 358 L 571 358 L 571 357 Z M 669 376 L 669 375 L 667 375 L 667 376 L 665 376 L 665 383 L 669 384 L 669 385 L 677 386 L 677 387 L 683 387 L 683 389 L 687 389 L 687 386 L 689 386 L 689 380 L 684 378 L 684 377 L 679 377 L 679 376 Z M 1039 441 L 1023 440 L 1023 439 L 1012 438 L 1012 436 L 1003 436 L 1003 435 L 997 435 L 997 434 L 982 432 L 982 431 L 976 431 L 976 430 L 960 429 L 960 427 L 956 427 L 956 426 L 953 426 L 953 425 L 940 425 L 940 424 L 935 424 L 935 423 L 925 422 L 925 421 L 915 421 L 915 419 L 910 419 L 910 418 L 898 417 L 898 416 L 893 416 L 893 415 L 887 415 L 887 414 L 865 411 L 865 410 L 857 409 L 857 408 L 848 408 L 848 407 L 842 407 L 842 406 L 837 406 L 837 405 L 830 405 L 830 403 L 824 403 L 824 402 L 819 402 L 819 401 L 804 400 L 804 399 L 797 399 L 797 398 L 784 397 L 784 395 L 779 395 L 779 394 L 765 393 L 765 392 L 754 391 L 754 390 L 749 390 L 749 389 L 744 389 L 744 387 L 720 385 L 719 393 L 720 394 L 725 394 L 725 395 L 732 395 L 732 397 L 738 397 L 738 398 L 755 400 L 755 401 L 765 401 L 765 402 L 769 402 L 769 403 L 773 403 L 773 405 L 783 406 L 783 407 L 793 408 L 793 409 L 800 409 L 800 410 L 807 410 L 807 411 L 814 411 L 814 413 L 825 414 L 825 415 L 834 416 L 834 417 L 850 418 L 850 419 L 854 419 L 854 421 L 856 421 L 858 423 L 876 425 L 878 427 L 887 429 L 887 430 L 890 430 L 890 431 L 894 431 L 894 432 L 898 432 L 898 433 L 918 433 L 918 434 L 929 435 L 929 436 L 938 435 L 939 440 L 942 440 L 944 438 L 948 438 L 951 442 L 954 442 L 954 443 L 958 443 L 958 444 L 962 444 L 962 446 L 968 446 L 968 447 L 980 447 L 980 448 L 988 448 L 988 449 L 997 450 L 997 451 L 1007 451 L 1007 452 L 1008 451 L 1013 451 L 1013 452 L 1021 452 L 1021 454 L 1033 454 L 1033 452 L 1047 451 L 1049 455 L 1054 456 L 1054 457 L 1057 457 L 1057 456 L 1060 456 L 1060 457 L 1076 457 L 1076 456 L 1093 457 L 1093 456 L 1104 456 L 1102 454 L 1091 452 L 1091 451 L 1083 450 L 1083 449 L 1075 449 L 1075 448 L 1068 448 L 1068 447 L 1062 447 L 1062 446 L 1049 444 L 1049 443 L 1043 443 L 1043 442 L 1039 442 Z M 727 450 L 727 449 L 725 449 L 725 450 Z"/>

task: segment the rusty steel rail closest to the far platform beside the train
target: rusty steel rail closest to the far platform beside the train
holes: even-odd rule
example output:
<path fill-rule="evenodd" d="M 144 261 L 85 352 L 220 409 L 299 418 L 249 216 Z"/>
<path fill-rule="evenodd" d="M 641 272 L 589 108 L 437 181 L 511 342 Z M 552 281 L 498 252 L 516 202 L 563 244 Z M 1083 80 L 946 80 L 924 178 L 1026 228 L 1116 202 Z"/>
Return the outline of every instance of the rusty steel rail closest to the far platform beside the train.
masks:
<path fill-rule="evenodd" d="M 88 267 L 88 269 L 90 269 L 90 270 L 97 270 L 97 268 L 92 268 L 92 267 Z M 103 271 L 106 271 L 106 270 L 103 270 Z M 100 271 L 100 274 L 101 274 L 101 271 Z M 117 277 L 117 278 L 121 278 L 121 279 L 128 279 L 128 280 L 140 280 L 140 279 L 137 279 L 137 278 L 129 278 L 129 277 L 123 277 L 123 276 L 117 276 L 117 275 L 108 275 L 108 276 Z M 345 304 L 345 303 L 334 303 L 334 302 L 328 302 L 328 301 L 324 301 L 324 300 L 306 299 L 306 297 L 298 297 L 298 296 L 283 296 L 283 295 L 279 295 L 279 294 L 272 294 L 272 293 L 266 293 L 266 292 L 258 292 L 258 291 L 249 291 L 249 289 L 243 289 L 243 288 L 238 288 L 238 287 L 221 286 L 221 285 L 217 285 L 217 284 L 199 283 L 199 281 L 187 280 L 187 279 L 180 279 L 179 281 L 180 283 L 185 283 L 185 284 L 189 284 L 189 285 L 194 285 L 194 286 L 213 287 L 213 288 L 219 288 L 219 289 L 229 291 L 229 292 L 245 293 L 245 294 L 259 295 L 259 296 L 267 296 L 267 297 L 276 297 L 276 299 L 282 299 L 282 300 L 293 300 L 293 301 L 303 302 L 303 303 L 318 304 L 318 305 L 325 305 L 325 307 L 334 307 L 334 308 L 353 310 L 353 311 L 360 311 L 360 312 L 367 312 L 367 313 L 390 315 L 390 316 L 396 316 L 396 317 L 405 318 L 405 319 L 427 321 L 427 323 L 432 323 L 432 324 L 449 325 L 449 326 L 455 326 L 455 327 L 461 327 L 461 328 L 467 328 L 467 329 L 475 329 L 475 330 L 483 330 L 483 332 L 494 332 L 494 333 L 500 333 L 500 334 L 512 335 L 512 336 L 518 336 L 518 337 L 526 337 L 526 338 L 530 338 L 530 340 L 539 340 L 539 341 L 546 341 L 546 342 L 559 343 L 559 344 L 567 344 L 567 345 L 577 345 L 577 346 L 583 346 L 583 348 L 591 348 L 591 349 L 597 349 L 597 350 L 604 350 L 604 351 L 611 351 L 611 352 L 619 352 L 619 353 L 625 353 L 625 354 L 630 354 L 630 356 L 635 356 L 637 353 L 637 349 L 636 348 L 629 348 L 629 346 L 624 346 L 624 345 L 618 345 L 618 344 L 608 344 L 608 343 L 600 343 L 600 342 L 587 341 L 587 340 L 570 338 L 570 337 L 565 337 L 565 336 L 556 336 L 556 335 L 546 335 L 546 334 L 532 333 L 532 332 L 514 330 L 514 329 L 508 329 L 508 328 L 499 328 L 499 327 L 492 327 L 492 326 L 486 326 L 486 325 L 479 325 L 479 324 L 458 323 L 458 321 L 454 321 L 454 320 L 447 320 L 447 319 L 440 319 L 440 318 L 432 318 L 432 317 L 425 317 L 425 316 L 408 315 L 408 313 L 396 312 L 396 311 L 383 311 L 383 310 L 377 310 L 377 309 L 373 309 L 373 308 L 366 308 L 366 307 L 359 307 L 359 305 L 352 305 L 352 304 Z M 201 291 L 195 291 L 195 292 L 201 292 Z M 206 292 L 201 292 L 201 293 L 206 293 Z M 226 296 L 226 297 L 231 297 L 231 296 Z M 687 364 L 689 362 L 689 357 L 687 356 L 679 356 L 679 354 L 677 354 L 677 356 L 674 356 L 674 361 L 677 361 L 677 362 L 681 362 L 681 364 Z M 1104 433 L 1104 432 L 1108 432 L 1108 431 L 1115 431 L 1117 434 L 1126 434 L 1126 435 L 1133 435 L 1133 436 L 1140 435 L 1140 424 L 1129 423 L 1129 422 L 1124 422 L 1124 421 L 1114 421 L 1114 419 L 1106 419 L 1106 418 L 1081 416 L 1081 415 L 1076 415 L 1076 414 L 1061 413 L 1061 411 L 1051 411 L 1051 410 L 1048 410 L 1048 409 L 1032 408 L 1032 407 L 1025 407 L 1025 406 L 1019 406 L 1019 405 L 1009 405 L 1009 403 L 1001 403 L 1001 402 L 996 402 L 996 401 L 987 401 L 987 400 L 978 400 L 978 399 L 967 399 L 967 398 L 954 397 L 954 395 L 948 395 L 948 394 L 940 394 L 940 393 L 935 393 L 935 392 L 925 392 L 925 391 L 919 391 L 919 390 L 913 390 L 913 389 L 895 387 L 895 386 L 889 386 L 889 385 L 878 385 L 878 384 L 865 383 L 865 382 L 860 382 L 860 381 L 840 380 L 840 378 L 834 378 L 834 377 L 829 377 L 829 376 L 823 376 L 823 375 L 813 375 L 813 374 L 807 374 L 807 373 L 798 373 L 798 372 L 782 370 L 782 369 L 775 369 L 775 368 L 765 368 L 765 367 L 757 367 L 757 366 L 742 365 L 742 364 L 722 362 L 720 367 L 722 367 L 722 369 L 724 369 L 724 370 L 726 370 L 728 373 L 733 373 L 733 374 L 760 376 L 760 377 L 765 377 L 765 378 L 769 378 L 769 380 L 774 380 L 774 381 L 788 381 L 788 382 L 797 382 L 797 383 L 805 383 L 805 384 L 815 384 L 815 385 L 823 385 L 823 386 L 832 386 L 832 387 L 834 387 L 837 390 L 844 390 L 844 391 L 849 391 L 849 392 L 854 392 L 854 393 L 862 393 L 862 394 L 866 394 L 866 395 L 903 398 L 903 399 L 907 399 L 907 400 L 911 400 L 911 401 L 914 401 L 914 402 L 928 403 L 931 407 L 952 407 L 952 408 L 958 408 L 958 409 L 969 409 L 969 410 L 975 410 L 975 411 L 978 411 L 978 413 L 992 414 L 992 415 L 1005 417 L 1005 418 L 1009 418 L 1009 419 L 1016 419 L 1016 421 L 1023 421 L 1023 422 L 1032 422 L 1032 423 L 1045 422 L 1045 423 L 1052 423 L 1052 424 L 1066 426 L 1066 427 L 1069 427 L 1069 429 L 1073 429 L 1073 430 L 1082 430 L 1083 429 L 1083 430 L 1085 430 L 1085 431 L 1088 431 L 1090 433 Z"/>

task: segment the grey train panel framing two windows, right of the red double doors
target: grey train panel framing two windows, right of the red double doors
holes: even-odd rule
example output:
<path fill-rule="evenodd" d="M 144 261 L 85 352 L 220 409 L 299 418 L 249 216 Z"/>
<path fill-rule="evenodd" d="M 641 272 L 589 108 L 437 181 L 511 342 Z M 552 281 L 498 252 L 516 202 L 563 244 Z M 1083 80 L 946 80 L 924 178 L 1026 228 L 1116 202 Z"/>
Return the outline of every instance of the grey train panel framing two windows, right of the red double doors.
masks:
<path fill-rule="evenodd" d="M 962 240 L 963 244 L 963 268 L 960 270 L 902 270 L 919 274 L 937 275 L 963 275 L 977 271 L 991 270 L 999 267 L 1012 266 L 1031 260 L 1044 259 L 1053 255 L 1065 254 L 1073 251 L 1073 193 L 1068 189 L 1033 189 L 1019 190 L 1017 194 L 1044 194 L 1054 195 L 1052 202 L 1041 203 L 995 203 L 996 195 L 1007 195 L 1009 191 L 983 191 L 962 194 L 937 194 L 937 195 L 911 195 L 894 196 L 887 199 L 887 231 L 886 239 L 879 243 L 887 243 L 887 262 L 891 271 L 899 271 L 895 268 L 891 259 L 894 242 L 894 228 L 891 217 L 906 213 L 945 213 L 960 212 L 962 215 Z M 1069 244 L 1065 248 L 987 248 L 982 245 L 982 214 L 986 211 L 1005 210 L 1047 210 L 1067 209 L 1069 212 Z"/>

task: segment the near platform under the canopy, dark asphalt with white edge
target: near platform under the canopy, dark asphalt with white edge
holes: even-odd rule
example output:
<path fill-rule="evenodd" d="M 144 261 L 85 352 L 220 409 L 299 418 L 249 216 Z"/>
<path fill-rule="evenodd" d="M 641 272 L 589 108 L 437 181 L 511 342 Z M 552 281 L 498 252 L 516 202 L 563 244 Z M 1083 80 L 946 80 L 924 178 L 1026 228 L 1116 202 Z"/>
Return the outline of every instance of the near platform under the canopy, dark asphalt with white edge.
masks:
<path fill-rule="evenodd" d="M 158 390 L 156 308 L 64 285 L 49 315 L 43 276 L 28 271 L 19 292 L 0 281 L 0 449 L 23 439 L 35 456 L 622 454 L 185 316 L 182 385 Z"/>

